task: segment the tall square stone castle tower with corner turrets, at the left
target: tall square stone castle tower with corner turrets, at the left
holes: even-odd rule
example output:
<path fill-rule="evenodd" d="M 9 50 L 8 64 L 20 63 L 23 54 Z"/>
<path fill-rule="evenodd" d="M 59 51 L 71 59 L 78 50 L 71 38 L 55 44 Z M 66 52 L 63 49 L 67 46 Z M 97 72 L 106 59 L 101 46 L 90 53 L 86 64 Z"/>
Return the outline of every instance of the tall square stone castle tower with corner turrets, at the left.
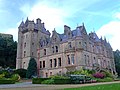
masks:
<path fill-rule="evenodd" d="M 18 27 L 16 69 L 27 69 L 32 57 L 37 60 L 37 48 L 40 46 L 41 38 L 46 40 L 49 37 L 50 33 L 46 31 L 44 23 L 41 23 L 40 19 L 37 19 L 36 23 L 28 18 L 25 23 L 22 21 Z"/>

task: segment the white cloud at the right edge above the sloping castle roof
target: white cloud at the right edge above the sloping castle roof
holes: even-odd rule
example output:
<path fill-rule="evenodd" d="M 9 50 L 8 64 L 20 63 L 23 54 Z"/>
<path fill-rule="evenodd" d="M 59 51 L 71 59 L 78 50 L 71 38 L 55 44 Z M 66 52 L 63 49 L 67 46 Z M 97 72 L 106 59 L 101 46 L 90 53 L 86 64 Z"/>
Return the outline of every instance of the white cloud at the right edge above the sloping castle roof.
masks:
<path fill-rule="evenodd" d="M 105 36 L 110 42 L 113 50 L 120 50 L 120 21 L 111 21 L 103 25 L 98 31 L 99 37 Z"/>

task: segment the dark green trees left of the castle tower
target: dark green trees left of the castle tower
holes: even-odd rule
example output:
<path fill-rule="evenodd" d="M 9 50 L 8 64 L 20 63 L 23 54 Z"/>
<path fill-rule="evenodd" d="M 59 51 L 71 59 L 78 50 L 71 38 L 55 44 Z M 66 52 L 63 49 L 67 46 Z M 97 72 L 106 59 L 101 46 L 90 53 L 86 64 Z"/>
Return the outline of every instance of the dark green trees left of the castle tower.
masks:
<path fill-rule="evenodd" d="M 17 42 L 13 40 L 12 35 L 9 37 L 0 34 L 0 66 L 15 68 L 16 53 Z"/>

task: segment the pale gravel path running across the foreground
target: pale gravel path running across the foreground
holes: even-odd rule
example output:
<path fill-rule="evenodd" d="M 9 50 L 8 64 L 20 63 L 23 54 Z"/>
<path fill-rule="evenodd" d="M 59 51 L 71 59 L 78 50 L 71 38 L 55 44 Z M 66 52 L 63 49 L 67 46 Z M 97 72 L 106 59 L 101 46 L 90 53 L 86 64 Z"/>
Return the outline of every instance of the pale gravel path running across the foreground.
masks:
<path fill-rule="evenodd" d="M 56 89 L 60 90 L 64 88 L 74 88 L 81 86 L 92 86 L 92 85 L 111 84 L 111 83 L 120 83 L 120 81 L 90 83 L 90 84 L 67 84 L 67 85 L 43 85 L 43 84 L 32 84 L 31 82 L 23 82 L 17 84 L 0 85 L 0 90 L 56 90 Z"/>

